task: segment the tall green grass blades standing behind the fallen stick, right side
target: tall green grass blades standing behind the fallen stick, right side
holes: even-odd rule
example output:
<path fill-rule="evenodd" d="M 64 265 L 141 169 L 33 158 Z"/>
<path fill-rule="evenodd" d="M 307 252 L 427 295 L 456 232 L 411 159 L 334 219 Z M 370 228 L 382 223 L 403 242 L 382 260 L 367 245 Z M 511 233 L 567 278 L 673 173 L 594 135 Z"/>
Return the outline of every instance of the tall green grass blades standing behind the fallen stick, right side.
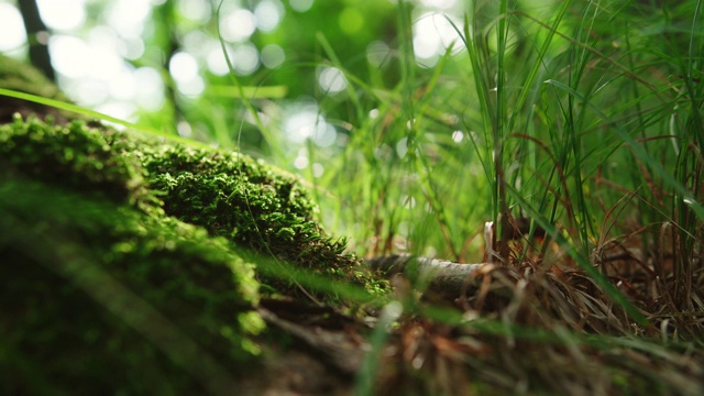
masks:
<path fill-rule="evenodd" d="M 415 63 L 407 2 L 398 14 L 400 80 L 348 75 L 349 142 L 316 154 L 331 160 L 320 182 L 337 200 L 322 207 L 358 252 L 476 262 L 485 221 L 501 235 L 530 215 L 534 229 L 574 248 L 563 264 L 592 267 L 617 243 L 647 254 L 664 242 L 691 261 L 702 220 L 700 2 L 471 2 L 454 24 L 465 51 L 430 69 Z M 673 241 L 658 235 L 663 227 Z"/>

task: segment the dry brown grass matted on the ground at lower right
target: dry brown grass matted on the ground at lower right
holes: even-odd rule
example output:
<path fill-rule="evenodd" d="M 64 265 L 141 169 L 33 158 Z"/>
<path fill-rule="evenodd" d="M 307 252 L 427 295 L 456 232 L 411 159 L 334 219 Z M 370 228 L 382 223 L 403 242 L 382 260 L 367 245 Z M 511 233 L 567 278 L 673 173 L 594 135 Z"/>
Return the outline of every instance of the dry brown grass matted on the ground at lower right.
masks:
<path fill-rule="evenodd" d="M 593 264 L 646 316 L 641 324 L 569 260 L 544 268 L 522 248 L 475 275 L 479 288 L 453 301 L 461 319 L 438 320 L 438 301 L 424 300 L 400 320 L 378 394 L 704 393 L 698 260 L 685 287 L 672 252 L 638 257 L 634 246 L 605 246 Z"/>

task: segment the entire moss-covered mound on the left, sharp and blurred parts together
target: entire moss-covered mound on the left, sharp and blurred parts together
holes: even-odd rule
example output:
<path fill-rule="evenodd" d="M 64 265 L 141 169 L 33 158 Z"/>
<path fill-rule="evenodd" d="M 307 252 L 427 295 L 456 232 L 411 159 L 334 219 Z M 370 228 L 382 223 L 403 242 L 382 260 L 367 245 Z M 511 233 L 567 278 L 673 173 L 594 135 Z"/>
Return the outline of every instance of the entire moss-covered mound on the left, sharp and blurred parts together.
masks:
<path fill-rule="evenodd" d="M 252 252 L 380 292 L 296 177 L 58 121 L 0 125 L 0 393 L 232 392 L 258 359 L 260 280 L 300 287 Z"/>

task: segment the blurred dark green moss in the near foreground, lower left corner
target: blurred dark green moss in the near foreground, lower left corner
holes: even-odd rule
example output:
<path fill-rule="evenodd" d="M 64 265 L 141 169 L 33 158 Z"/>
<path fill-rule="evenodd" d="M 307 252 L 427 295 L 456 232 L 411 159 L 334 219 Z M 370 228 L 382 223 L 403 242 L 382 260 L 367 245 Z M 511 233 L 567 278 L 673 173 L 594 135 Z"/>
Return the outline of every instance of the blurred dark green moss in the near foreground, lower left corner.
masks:
<path fill-rule="evenodd" d="M 200 228 L 15 178 L 0 230 L 3 394 L 199 393 L 256 353 L 253 267 Z"/>

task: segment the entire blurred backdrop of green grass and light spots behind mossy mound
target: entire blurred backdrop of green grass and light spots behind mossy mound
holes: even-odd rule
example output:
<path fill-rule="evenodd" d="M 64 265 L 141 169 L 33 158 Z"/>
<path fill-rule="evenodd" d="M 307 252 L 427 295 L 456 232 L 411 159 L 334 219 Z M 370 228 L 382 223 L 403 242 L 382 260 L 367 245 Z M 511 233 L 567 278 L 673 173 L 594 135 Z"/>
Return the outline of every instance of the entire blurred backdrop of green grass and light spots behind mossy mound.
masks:
<path fill-rule="evenodd" d="M 78 105 L 300 175 L 361 255 L 476 262 L 499 210 L 580 231 L 586 255 L 604 232 L 662 221 L 671 139 L 702 133 L 695 1 L 36 3 L 47 29 L 28 37 L 21 3 L 0 0 L 1 53 L 45 44 Z"/>

